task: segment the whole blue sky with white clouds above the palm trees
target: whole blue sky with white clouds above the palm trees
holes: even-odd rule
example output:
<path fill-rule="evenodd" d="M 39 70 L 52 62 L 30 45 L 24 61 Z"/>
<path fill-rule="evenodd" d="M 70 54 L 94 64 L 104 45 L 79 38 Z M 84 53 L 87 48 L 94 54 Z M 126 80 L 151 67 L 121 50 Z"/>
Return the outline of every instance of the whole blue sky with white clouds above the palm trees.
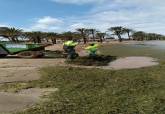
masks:
<path fill-rule="evenodd" d="M 125 26 L 165 34 L 164 0 L 0 0 L 0 26 L 63 32 Z"/>

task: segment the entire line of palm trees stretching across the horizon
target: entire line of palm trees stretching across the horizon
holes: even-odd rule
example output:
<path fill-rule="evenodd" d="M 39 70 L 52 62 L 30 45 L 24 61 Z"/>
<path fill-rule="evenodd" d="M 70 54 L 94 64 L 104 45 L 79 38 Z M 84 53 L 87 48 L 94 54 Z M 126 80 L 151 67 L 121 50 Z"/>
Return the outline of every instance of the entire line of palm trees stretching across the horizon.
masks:
<path fill-rule="evenodd" d="M 132 29 L 121 26 L 111 27 L 107 30 L 107 32 L 101 32 L 96 29 L 78 28 L 75 30 L 75 32 L 69 31 L 63 33 L 40 31 L 24 32 L 23 30 L 17 28 L 0 27 L 0 36 L 8 39 L 11 42 L 51 42 L 53 44 L 56 44 L 57 40 L 69 39 L 77 39 L 84 42 L 84 44 L 89 41 L 103 42 L 104 40 L 106 40 L 106 38 L 115 39 L 114 36 L 116 36 L 120 42 L 126 39 L 138 41 L 165 40 L 164 35 L 145 33 L 143 31 L 134 31 Z M 123 38 L 123 36 L 127 36 L 127 38 Z"/>

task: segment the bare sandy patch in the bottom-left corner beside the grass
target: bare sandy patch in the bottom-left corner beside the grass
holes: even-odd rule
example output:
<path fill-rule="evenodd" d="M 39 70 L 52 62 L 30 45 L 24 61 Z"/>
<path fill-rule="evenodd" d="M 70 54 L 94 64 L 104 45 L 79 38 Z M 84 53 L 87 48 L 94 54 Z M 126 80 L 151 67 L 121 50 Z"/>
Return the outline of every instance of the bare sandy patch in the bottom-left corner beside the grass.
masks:
<path fill-rule="evenodd" d="M 32 88 L 22 90 L 19 93 L 0 92 L 0 113 L 5 114 L 23 110 L 41 101 L 41 96 L 48 95 L 50 92 L 55 92 L 57 90 L 58 89 Z"/>

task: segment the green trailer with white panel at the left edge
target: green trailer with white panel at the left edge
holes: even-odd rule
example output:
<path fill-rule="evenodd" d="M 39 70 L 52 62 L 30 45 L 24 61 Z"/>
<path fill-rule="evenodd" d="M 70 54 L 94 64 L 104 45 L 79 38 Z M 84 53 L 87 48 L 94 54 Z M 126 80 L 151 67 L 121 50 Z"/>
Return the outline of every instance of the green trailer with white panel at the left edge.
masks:
<path fill-rule="evenodd" d="M 6 57 L 7 55 L 17 55 L 21 58 L 42 57 L 46 46 L 48 44 L 0 42 L 0 57 Z"/>

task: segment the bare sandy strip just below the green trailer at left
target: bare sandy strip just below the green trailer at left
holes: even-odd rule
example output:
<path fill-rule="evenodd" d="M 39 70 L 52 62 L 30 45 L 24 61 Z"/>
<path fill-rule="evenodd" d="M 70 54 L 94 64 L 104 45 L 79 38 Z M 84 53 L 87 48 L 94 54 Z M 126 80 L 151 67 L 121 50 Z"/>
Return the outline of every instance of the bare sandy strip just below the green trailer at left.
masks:
<path fill-rule="evenodd" d="M 60 64 L 63 59 L 0 59 L 0 83 L 38 80 L 39 68 Z"/>

